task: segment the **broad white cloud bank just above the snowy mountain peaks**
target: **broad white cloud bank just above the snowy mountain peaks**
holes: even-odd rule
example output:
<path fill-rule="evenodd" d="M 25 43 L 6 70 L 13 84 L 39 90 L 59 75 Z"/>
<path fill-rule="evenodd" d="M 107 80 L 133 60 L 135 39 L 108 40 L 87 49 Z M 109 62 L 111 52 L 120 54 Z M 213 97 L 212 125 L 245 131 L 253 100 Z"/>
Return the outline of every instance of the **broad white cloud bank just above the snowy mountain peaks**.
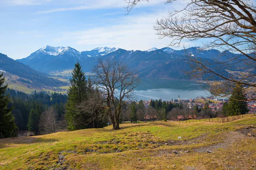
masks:
<path fill-rule="evenodd" d="M 117 19 L 120 23 L 116 25 L 90 28 L 84 31 L 63 32 L 61 38 L 55 38 L 54 41 L 69 41 L 74 46 L 78 46 L 80 49 L 77 50 L 79 51 L 90 50 L 90 48 L 98 46 L 118 47 L 126 50 L 163 48 L 170 43 L 170 39 L 160 40 L 153 26 L 157 18 L 166 16 L 167 12 L 124 16 Z M 189 45 L 189 42 L 186 42 L 186 45 Z M 84 49 L 84 47 L 88 49 Z M 182 45 L 180 48 L 183 48 Z"/>

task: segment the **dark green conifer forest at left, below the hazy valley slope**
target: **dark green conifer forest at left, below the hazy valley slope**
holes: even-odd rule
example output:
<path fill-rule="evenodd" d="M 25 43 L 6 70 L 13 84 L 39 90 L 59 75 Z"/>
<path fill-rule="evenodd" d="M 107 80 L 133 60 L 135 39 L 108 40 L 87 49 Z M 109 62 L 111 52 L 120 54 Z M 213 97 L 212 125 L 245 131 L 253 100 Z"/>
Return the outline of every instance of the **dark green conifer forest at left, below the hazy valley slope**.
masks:
<path fill-rule="evenodd" d="M 7 94 L 10 94 L 9 96 L 11 98 L 8 107 L 14 108 L 12 114 L 15 116 L 17 127 L 21 130 L 29 128 L 29 116 L 32 118 L 33 113 L 38 113 L 37 118 L 34 116 L 34 119 L 38 119 L 37 124 L 39 125 L 41 113 L 51 106 L 55 108 L 59 120 L 64 118 L 67 95 L 49 93 L 46 91 L 35 91 L 32 94 L 25 94 L 10 88 L 7 89 L 6 95 Z M 32 128 L 33 131 L 37 131 L 35 129 Z"/>

